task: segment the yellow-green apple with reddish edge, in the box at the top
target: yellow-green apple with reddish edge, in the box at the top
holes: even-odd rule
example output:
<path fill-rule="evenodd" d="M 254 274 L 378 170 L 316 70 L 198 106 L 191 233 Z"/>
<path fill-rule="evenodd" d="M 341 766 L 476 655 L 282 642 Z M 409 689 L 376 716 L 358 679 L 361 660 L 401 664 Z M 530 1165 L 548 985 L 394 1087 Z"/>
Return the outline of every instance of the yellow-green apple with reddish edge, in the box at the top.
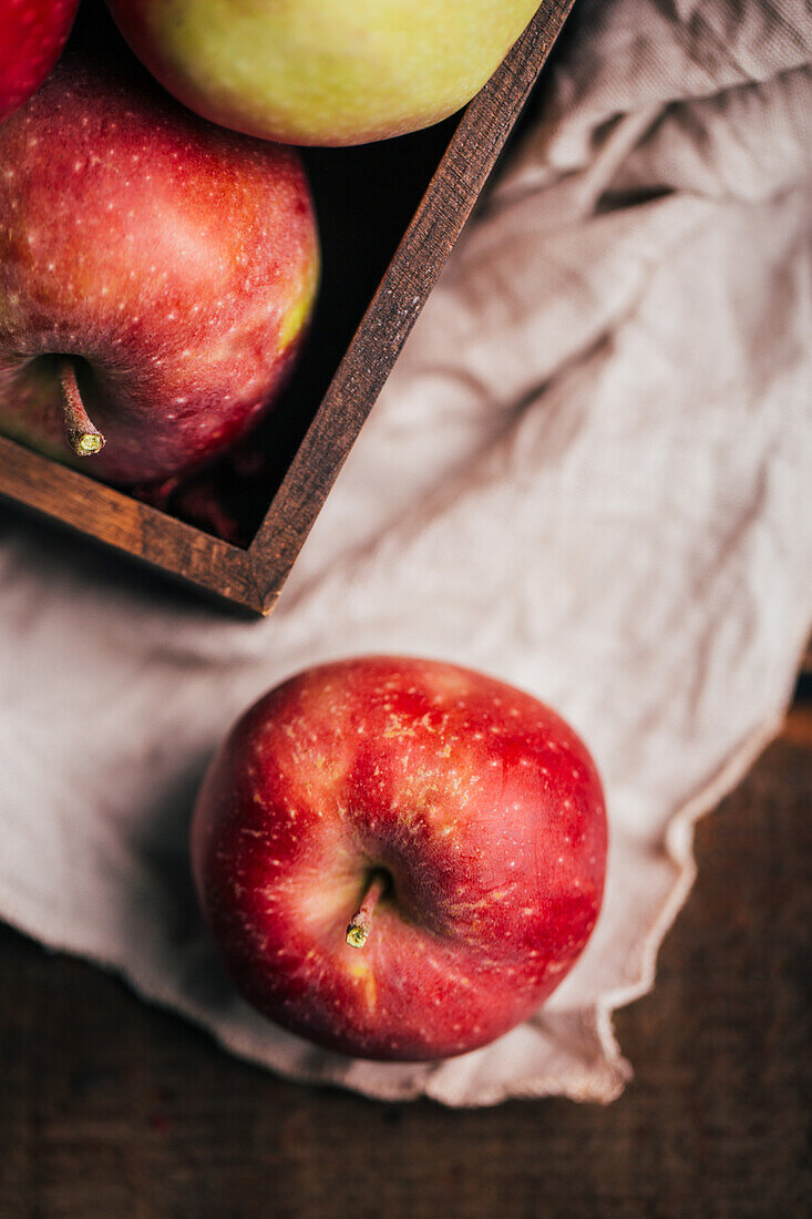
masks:
<path fill-rule="evenodd" d="M 290 144 L 363 144 L 469 101 L 539 0 L 107 0 L 191 110 Z"/>

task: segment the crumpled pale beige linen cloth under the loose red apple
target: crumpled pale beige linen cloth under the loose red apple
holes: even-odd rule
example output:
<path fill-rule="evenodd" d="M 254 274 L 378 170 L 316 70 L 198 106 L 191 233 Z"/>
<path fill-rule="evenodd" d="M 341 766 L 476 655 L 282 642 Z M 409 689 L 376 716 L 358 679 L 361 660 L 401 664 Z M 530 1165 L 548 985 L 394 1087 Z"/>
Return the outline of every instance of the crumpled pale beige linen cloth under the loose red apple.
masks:
<path fill-rule="evenodd" d="M 267 622 L 2 510 L 0 915 L 294 1079 L 447 1104 L 622 1091 L 612 1011 L 652 985 L 693 823 L 775 733 L 811 625 L 811 59 L 797 0 L 577 0 Z M 233 718 L 374 651 L 529 689 L 607 792 L 584 957 L 439 1064 L 345 1059 L 254 1014 L 188 874 Z"/>

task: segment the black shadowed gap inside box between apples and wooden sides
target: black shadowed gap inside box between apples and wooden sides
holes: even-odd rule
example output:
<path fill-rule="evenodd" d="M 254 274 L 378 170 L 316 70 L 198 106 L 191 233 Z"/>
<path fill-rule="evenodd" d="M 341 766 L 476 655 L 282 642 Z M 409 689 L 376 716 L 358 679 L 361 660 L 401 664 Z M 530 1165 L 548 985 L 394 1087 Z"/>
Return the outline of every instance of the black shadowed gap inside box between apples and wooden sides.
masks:
<path fill-rule="evenodd" d="M 300 149 L 322 246 L 311 327 L 282 396 L 204 471 L 129 494 L 248 547 L 460 122 L 345 149 Z"/>

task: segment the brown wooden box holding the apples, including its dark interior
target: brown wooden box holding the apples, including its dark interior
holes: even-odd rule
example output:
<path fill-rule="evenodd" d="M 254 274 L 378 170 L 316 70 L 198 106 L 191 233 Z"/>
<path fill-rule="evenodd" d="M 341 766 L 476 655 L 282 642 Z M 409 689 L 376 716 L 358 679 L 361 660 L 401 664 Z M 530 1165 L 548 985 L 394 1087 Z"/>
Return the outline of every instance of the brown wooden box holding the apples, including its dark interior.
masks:
<path fill-rule="evenodd" d="M 322 232 L 322 290 L 285 396 L 251 438 L 273 457 L 251 488 L 255 516 L 243 545 L 5 438 L 0 494 L 269 613 L 572 2 L 545 0 L 461 116 L 397 140 L 302 150 Z"/>

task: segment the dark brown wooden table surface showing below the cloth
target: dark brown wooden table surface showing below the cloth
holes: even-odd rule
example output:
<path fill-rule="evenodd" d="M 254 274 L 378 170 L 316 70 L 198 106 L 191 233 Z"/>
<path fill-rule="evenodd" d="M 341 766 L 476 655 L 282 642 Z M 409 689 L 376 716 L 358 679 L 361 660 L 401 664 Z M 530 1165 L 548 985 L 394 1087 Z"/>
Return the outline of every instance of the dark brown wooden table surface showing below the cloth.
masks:
<path fill-rule="evenodd" d="M 0 930 L 0 1214 L 808 1215 L 811 808 L 806 689 L 699 826 L 656 989 L 617 1017 L 635 1078 L 606 1108 L 282 1082 Z"/>

